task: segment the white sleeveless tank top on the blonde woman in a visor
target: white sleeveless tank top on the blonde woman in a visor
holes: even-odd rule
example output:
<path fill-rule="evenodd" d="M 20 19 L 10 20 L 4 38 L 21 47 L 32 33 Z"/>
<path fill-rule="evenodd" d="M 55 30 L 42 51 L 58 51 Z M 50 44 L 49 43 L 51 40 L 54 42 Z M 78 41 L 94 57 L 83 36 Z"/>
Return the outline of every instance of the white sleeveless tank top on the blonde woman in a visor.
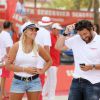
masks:
<path fill-rule="evenodd" d="M 16 58 L 14 61 L 15 66 L 20 67 L 37 67 L 38 64 L 38 49 L 37 52 L 33 52 L 33 50 L 30 53 L 25 53 L 22 49 L 22 42 L 19 41 L 19 48 L 16 54 Z M 31 74 L 25 73 L 25 72 L 14 72 L 14 74 L 22 77 L 30 77 L 33 76 Z"/>

